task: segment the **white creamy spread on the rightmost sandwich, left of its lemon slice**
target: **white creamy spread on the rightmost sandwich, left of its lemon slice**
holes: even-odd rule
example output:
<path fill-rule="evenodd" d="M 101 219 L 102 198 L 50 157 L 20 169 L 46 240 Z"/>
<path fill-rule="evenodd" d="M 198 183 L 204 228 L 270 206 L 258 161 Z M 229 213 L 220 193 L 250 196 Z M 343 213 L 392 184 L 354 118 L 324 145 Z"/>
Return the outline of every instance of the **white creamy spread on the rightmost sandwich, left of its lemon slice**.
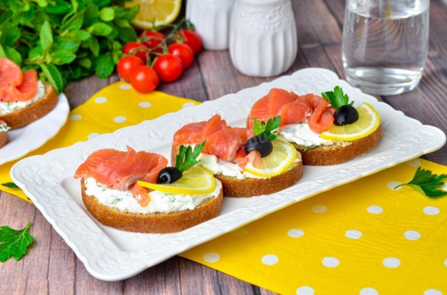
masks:
<path fill-rule="evenodd" d="M 332 140 L 320 137 L 318 133 L 310 130 L 307 123 L 292 123 L 284 125 L 279 129 L 280 137 L 287 142 L 295 142 L 301 146 L 319 146 L 321 144 L 334 144 Z"/>

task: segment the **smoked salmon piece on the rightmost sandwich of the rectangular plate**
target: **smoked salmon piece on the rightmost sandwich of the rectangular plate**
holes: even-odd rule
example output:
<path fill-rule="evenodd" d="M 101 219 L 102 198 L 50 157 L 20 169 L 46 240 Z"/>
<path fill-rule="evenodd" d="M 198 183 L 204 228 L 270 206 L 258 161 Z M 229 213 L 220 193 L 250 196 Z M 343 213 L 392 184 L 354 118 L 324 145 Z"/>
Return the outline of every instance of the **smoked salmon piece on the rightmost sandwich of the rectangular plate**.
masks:
<path fill-rule="evenodd" d="M 281 116 L 280 126 L 288 123 L 309 123 L 314 133 L 323 133 L 334 122 L 335 108 L 320 96 L 309 93 L 297 96 L 283 89 L 271 89 L 267 96 L 259 99 L 251 108 L 248 118 L 249 128 L 254 128 L 254 119 L 267 122 Z"/>

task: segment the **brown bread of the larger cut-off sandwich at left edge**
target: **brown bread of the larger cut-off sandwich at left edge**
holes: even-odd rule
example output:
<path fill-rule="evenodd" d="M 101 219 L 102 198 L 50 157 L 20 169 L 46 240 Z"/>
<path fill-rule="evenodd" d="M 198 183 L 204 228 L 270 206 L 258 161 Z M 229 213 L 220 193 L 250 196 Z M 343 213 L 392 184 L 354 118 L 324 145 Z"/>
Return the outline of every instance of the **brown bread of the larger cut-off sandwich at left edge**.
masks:
<path fill-rule="evenodd" d="M 20 128 L 28 125 L 31 122 L 41 119 L 48 114 L 57 105 L 57 93 L 54 91 L 50 83 L 44 83 L 45 93 L 43 98 L 32 103 L 28 107 L 18 109 L 15 112 L 8 114 L 0 114 L 0 120 L 6 122 L 6 124 L 12 128 Z"/>

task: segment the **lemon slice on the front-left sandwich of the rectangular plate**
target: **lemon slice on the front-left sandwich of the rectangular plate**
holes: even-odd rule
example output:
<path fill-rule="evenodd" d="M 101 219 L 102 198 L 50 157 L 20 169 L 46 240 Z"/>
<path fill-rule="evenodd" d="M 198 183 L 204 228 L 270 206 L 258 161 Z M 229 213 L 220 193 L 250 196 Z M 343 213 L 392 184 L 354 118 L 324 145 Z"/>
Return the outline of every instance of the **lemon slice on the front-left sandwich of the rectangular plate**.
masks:
<path fill-rule="evenodd" d="M 212 172 L 200 165 L 196 165 L 184 172 L 181 179 L 170 184 L 156 184 L 137 181 L 139 186 L 160 190 L 177 195 L 203 195 L 214 191 L 214 176 Z"/>

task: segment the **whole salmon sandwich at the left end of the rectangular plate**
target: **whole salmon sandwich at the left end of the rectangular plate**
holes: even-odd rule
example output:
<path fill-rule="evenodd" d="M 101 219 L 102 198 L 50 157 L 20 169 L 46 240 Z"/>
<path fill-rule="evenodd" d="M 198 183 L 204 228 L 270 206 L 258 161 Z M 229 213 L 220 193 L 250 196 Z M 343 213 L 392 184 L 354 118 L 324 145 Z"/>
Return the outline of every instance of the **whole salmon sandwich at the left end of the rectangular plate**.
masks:
<path fill-rule="evenodd" d="M 203 147 L 203 145 L 202 145 Z M 101 149 L 75 172 L 82 201 L 103 225 L 129 232 L 179 232 L 216 217 L 222 186 L 196 165 L 200 146 L 181 146 L 176 167 L 156 153 Z"/>

